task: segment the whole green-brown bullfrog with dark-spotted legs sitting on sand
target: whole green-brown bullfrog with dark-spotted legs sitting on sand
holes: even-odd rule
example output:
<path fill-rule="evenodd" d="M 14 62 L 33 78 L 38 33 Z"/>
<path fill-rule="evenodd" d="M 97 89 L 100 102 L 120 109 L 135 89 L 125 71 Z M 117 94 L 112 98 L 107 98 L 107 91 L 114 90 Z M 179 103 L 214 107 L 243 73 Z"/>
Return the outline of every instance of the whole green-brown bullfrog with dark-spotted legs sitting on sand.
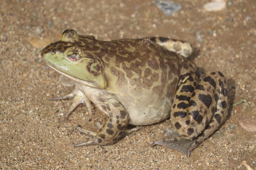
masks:
<path fill-rule="evenodd" d="M 69 29 L 42 52 L 45 63 L 70 78 L 75 88 L 52 100 L 73 99 L 65 115 L 91 102 L 108 116 L 98 132 L 78 126 L 92 137 L 74 145 L 110 145 L 142 126 L 170 120 L 162 145 L 190 156 L 228 118 L 226 78 L 215 71 L 201 76 L 190 60 L 190 43 L 164 38 L 96 40 Z M 127 128 L 133 125 L 133 128 Z"/>

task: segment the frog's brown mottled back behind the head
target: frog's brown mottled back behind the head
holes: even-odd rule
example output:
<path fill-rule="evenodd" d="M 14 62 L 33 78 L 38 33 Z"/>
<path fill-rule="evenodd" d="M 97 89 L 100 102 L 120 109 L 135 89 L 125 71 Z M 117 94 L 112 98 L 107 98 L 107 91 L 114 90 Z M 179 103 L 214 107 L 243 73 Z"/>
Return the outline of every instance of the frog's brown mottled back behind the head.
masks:
<path fill-rule="evenodd" d="M 101 58 L 105 71 L 110 71 L 105 75 L 116 76 L 119 83 L 128 81 L 132 85 L 149 88 L 154 82 L 173 82 L 174 78 L 196 69 L 192 62 L 181 55 L 147 38 L 114 40 L 100 44 L 108 51 Z"/>

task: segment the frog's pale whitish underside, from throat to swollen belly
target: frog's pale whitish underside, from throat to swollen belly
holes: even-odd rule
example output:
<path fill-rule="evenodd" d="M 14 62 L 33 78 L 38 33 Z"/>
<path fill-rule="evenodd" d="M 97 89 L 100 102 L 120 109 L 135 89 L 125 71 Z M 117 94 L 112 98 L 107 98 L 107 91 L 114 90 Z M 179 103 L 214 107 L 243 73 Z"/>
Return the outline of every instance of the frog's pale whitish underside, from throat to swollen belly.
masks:
<path fill-rule="evenodd" d="M 152 125 L 170 117 L 170 103 L 168 101 L 158 100 L 154 96 L 141 96 L 134 99 L 131 96 L 113 96 L 105 90 L 91 88 L 74 81 L 74 84 L 85 96 L 92 101 L 106 115 L 108 113 L 102 110 L 102 105 L 106 103 L 99 100 L 108 100 L 116 98 L 127 110 L 129 114 L 130 125 Z"/>

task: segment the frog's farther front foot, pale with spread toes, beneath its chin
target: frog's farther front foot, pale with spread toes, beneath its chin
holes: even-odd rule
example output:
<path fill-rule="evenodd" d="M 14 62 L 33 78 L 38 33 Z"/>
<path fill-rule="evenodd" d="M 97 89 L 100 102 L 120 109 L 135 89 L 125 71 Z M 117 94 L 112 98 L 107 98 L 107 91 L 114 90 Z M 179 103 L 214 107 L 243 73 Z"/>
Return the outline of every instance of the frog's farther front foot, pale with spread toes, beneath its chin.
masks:
<path fill-rule="evenodd" d="M 85 103 L 87 112 L 90 116 L 92 116 L 91 110 L 91 101 L 81 92 L 78 88 L 74 88 L 72 92 L 67 95 L 52 98 L 51 100 L 66 100 L 66 99 L 73 99 L 72 104 L 70 105 L 68 112 L 65 114 L 65 119 L 68 119 L 69 115 L 77 108 L 78 105 Z"/>

